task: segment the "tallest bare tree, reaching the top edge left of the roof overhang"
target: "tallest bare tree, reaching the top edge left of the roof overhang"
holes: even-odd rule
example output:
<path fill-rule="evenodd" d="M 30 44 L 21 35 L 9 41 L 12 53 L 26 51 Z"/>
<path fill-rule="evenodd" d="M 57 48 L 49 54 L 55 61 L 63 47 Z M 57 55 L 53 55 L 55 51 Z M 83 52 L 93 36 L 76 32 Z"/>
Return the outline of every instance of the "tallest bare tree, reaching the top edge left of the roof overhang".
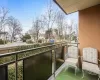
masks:
<path fill-rule="evenodd" d="M 45 27 L 47 28 L 47 31 L 51 31 L 51 29 L 54 26 L 54 22 L 56 20 L 56 12 L 53 10 L 53 3 L 50 1 L 45 14 L 42 15 L 43 22 L 45 23 Z M 50 34 L 48 33 L 48 38 L 50 38 Z"/>

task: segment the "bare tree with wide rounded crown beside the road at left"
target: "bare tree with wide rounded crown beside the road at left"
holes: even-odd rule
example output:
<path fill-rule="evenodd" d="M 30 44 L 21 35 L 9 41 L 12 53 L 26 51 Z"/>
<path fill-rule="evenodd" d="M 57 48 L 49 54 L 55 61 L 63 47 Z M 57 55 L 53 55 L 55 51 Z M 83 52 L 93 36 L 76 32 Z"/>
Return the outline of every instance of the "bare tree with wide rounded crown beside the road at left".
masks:
<path fill-rule="evenodd" d="M 20 22 L 15 19 L 14 17 L 8 17 L 8 27 L 9 27 L 9 34 L 11 36 L 11 42 L 13 42 L 16 38 L 16 35 L 20 35 L 22 28 Z"/>

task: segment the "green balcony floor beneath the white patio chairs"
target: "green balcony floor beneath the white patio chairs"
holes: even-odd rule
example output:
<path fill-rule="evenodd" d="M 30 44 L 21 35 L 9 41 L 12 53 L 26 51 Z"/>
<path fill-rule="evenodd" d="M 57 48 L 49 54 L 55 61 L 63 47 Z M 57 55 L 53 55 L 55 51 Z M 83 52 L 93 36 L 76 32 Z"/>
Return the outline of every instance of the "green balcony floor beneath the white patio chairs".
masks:
<path fill-rule="evenodd" d="M 76 76 L 74 74 L 74 69 L 69 68 L 67 71 L 62 71 L 56 80 L 98 80 L 98 76 L 90 75 L 85 72 L 85 77 L 82 78 L 82 72 L 78 71 Z"/>

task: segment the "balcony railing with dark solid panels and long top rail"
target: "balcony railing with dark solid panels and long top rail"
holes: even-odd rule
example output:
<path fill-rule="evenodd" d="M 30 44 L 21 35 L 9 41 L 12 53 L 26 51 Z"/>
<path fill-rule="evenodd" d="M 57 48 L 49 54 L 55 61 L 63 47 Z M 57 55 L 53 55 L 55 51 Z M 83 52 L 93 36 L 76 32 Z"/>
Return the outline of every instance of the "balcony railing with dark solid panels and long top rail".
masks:
<path fill-rule="evenodd" d="M 65 60 L 67 43 L 0 54 L 0 80 L 47 80 Z"/>

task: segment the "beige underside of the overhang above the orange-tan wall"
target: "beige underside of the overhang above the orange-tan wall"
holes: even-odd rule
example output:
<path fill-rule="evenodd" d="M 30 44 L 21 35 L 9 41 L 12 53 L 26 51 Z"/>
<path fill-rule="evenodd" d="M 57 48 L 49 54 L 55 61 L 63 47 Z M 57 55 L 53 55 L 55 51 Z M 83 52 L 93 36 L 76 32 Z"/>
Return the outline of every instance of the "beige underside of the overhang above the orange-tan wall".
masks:
<path fill-rule="evenodd" d="M 54 0 L 67 14 L 100 4 L 100 0 Z"/>

